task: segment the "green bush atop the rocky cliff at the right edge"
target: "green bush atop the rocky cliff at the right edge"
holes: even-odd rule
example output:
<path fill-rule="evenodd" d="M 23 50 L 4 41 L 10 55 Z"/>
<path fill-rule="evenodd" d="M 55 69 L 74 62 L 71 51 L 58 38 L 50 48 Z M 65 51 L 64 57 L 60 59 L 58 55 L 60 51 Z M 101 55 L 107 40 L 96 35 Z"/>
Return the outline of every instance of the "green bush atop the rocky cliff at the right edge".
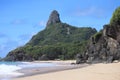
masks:
<path fill-rule="evenodd" d="M 110 20 L 110 24 L 112 25 L 120 25 L 120 7 L 118 7 L 115 12 L 113 13 L 113 16 Z"/>

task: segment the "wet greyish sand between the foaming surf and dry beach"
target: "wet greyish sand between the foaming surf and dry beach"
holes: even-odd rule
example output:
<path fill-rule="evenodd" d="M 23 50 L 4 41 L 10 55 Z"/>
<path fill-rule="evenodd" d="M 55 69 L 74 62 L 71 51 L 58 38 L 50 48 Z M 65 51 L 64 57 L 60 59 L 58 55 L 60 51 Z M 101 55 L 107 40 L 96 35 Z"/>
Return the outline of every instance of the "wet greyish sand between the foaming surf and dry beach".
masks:
<path fill-rule="evenodd" d="M 28 77 L 33 76 L 37 74 L 45 74 L 45 73 L 51 73 L 51 72 L 58 72 L 58 71 L 64 71 L 64 70 L 72 70 L 72 69 L 78 69 L 82 67 L 86 67 L 89 64 L 81 64 L 81 65 L 71 65 L 74 61 L 34 61 L 32 63 L 54 63 L 56 66 L 52 67 L 37 67 L 37 68 L 28 68 L 28 69 L 22 69 L 19 72 L 24 73 L 24 75 L 19 77 Z"/>

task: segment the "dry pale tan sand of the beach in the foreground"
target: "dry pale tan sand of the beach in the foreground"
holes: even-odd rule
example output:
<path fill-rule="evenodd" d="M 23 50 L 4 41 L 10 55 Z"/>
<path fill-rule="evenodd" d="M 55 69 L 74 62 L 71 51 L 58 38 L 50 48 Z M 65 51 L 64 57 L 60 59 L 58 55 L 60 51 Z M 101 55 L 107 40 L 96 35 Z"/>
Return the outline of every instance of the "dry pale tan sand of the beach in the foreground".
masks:
<path fill-rule="evenodd" d="M 98 63 L 68 70 L 61 69 L 44 74 L 18 77 L 14 80 L 120 80 L 120 62 Z"/>

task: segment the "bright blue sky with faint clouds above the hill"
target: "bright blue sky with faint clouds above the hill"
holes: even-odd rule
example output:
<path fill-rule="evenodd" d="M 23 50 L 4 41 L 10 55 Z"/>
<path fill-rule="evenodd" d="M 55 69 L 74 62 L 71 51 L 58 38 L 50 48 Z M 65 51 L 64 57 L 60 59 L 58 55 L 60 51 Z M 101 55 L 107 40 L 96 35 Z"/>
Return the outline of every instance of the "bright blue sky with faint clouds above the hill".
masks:
<path fill-rule="evenodd" d="M 0 57 L 45 29 L 53 10 L 64 23 L 99 31 L 118 6 L 120 0 L 0 0 Z"/>

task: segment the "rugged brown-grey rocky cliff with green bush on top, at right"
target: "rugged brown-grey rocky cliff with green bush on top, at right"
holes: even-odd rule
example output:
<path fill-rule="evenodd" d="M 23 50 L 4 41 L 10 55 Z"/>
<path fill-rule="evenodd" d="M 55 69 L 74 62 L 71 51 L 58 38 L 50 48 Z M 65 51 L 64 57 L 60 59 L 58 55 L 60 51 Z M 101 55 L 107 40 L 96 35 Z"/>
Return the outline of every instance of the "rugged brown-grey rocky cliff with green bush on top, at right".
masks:
<path fill-rule="evenodd" d="M 85 53 L 77 55 L 77 63 L 114 60 L 120 60 L 120 7 L 113 13 L 110 24 L 91 37 Z"/>

